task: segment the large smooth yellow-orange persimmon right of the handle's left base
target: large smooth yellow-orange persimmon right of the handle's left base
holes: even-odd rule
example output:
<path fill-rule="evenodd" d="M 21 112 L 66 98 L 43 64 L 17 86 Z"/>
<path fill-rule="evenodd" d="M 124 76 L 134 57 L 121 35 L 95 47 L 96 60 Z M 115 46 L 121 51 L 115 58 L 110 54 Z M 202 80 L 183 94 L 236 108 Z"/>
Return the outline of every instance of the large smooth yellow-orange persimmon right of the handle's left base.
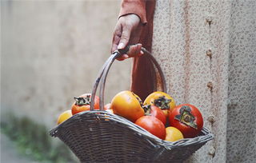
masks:
<path fill-rule="evenodd" d="M 122 91 L 113 97 L 111 109 L 114 114 L 126 117 L 133 122 L 144 115 L 141 99 L 129 90 Z"/>

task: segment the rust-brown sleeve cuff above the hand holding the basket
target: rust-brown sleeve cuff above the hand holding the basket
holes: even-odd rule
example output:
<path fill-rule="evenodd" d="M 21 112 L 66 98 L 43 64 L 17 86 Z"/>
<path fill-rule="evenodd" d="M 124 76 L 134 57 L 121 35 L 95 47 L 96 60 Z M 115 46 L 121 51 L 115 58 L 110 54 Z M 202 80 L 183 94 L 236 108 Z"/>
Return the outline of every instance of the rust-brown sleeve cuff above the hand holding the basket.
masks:
<path fill-rule="evenodd" d="M 137 14 L 142 24 L 146 24 L 145 0 L 122 0 L 122 6 L 118 18 L 126 14 Z"/>

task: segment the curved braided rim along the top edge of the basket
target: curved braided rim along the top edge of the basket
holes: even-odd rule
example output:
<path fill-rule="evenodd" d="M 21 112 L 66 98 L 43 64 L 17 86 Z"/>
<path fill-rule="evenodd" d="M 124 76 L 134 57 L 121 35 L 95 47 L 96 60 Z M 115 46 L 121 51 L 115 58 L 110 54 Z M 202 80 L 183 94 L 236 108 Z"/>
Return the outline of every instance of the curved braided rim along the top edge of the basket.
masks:
<path fill-rule="evenodd" d="M 101 119 L 108 119 L 110 121 L 118 122 L 120 125 L 125 125 L 126 127 L 132 129 L 134 132 L 138 133 L 139 136 L 146 138 L 151 143 L 164 146 L 166 149 L 174 149 L 186 145 L 194 145 L 198 143 L 206 143 L 206 141 L 210 141 L 214 138 L 214 134 L 210 133 L 209 129 L 206 129 L 205 127 L 202 128 L 201 133 L 203 135 L 199 135 L 197 137 L 193 138 L 183 138 L 178 141 L 165 141 L 162 140 L 153 134 L 149 133 L 146 129 L 143 129 L 142 127 L 136 125 L 132 121 L 127 120 L 124 117 L 118 116 L 114 113 L 109 113 L 105 110 L 92 110 L 92 111 L 84 111 L 81 113 L 77 113 L 74 116 L 70 117 L 66 121 L 63 121 L 61 124 L 54 127 L 54 129 L 50 129 L 50 136 L 51 137 L 58 137 L 58 131 L 62 129 L 66 129 L 68 125 L 74 124 L 74 121 L 81 121 L 83 117 L 87 116 L 94 116 L 98 120 Z"/>

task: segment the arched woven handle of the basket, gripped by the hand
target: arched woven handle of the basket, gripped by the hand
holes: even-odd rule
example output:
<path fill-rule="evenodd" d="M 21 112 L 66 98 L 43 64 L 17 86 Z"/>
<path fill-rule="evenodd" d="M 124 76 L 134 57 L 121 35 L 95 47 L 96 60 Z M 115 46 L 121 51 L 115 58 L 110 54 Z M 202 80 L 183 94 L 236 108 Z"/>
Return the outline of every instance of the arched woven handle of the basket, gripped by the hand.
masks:
<path fill-rule="evenodd" d="M 120 57 L 122 54 L 125 54 L 129 51 L 130 46 L 127 46 L 125 50 L 119 50 L 119 51 L 114 51 L 112 55 L 110 55 L 110 58 L 106 60 L 104 65 L 102 66 L 102 69 L 100 70 L 98 74 L 98 78 L 96 79 L 93 87 L 93 91 L 91 93 L 91 100 L 90 100 L 90 110 L 94 110 L 94 97 L 96 95 L 97 89 L 98 89 L 98 84 L 101 81 L 100 84 L 100 91 L 99 91 L 99 108 L 100 110 L 104 110 L 104 91 L 105 91 L 105 84 L 106 84 L 106 76 L 110 70 L 110 67 L 112 66 L 114 60 L 118 57 Z M 158 73 L 160 75 L 161 81 L 162 81 L 162 91 L 166 92 L 166 79 L 162 73 L 162 69 L 159 66 L 158 62 L 156 59 L 153 57 L 153 55 L 147 51 L 145 48 L 142 47 L 142 51 L 144 52 L 144 55 L 146 55 L 148 58 L 150 58 L 150 61 L 154 64 L 156 69 L 158 70 Z"/>

